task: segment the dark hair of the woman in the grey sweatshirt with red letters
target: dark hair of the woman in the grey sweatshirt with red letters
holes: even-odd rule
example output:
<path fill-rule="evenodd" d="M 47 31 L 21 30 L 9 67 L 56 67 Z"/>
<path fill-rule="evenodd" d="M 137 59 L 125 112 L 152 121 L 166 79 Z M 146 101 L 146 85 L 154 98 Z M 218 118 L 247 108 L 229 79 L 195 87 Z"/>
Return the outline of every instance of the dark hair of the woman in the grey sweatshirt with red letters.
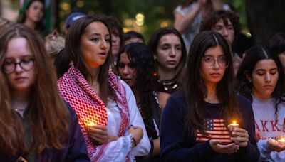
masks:
<path fill-rule="evenodd" d="M 269 48 L 265 48 L 261 45 L 254 45 L 247 51 L 247 54 L 242 61 L 242 64 L 239 66 L 239 70 L 236 76 L 235 88 L 239 94 L 244 95 L 252 101 L 252 82 L 247 80 L 247 76 L 245 73 L 247 72 L 249 75 L 252 75 L 255 65 L 260 60 L 264 59 L 272 59 L 277 65 L 279 71 L 278 81 L 276 83 L 276 87 L 272 92 L 272 97 L 275 99 L 275 108 L 276 113 L 278 111 L 278 104 L 284 100 L 285 95 L 285 87 L 284 87 L 284 70 L 282 64 L 273 50 L 269 50 Z"/>

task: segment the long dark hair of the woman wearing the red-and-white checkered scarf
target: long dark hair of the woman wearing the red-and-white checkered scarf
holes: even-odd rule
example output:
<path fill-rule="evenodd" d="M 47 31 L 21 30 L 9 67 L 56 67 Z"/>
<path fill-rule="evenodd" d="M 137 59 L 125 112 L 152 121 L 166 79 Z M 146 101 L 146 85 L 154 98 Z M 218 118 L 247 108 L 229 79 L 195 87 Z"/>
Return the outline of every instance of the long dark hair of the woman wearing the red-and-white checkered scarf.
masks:
<path fill-rule="evenodd" d="M 93 80 L 90 71 L 86 65 L 85 60 L 81 54 L 80 45 L 81 45 L 81 36 L 87 26 L 93 22 L 101 22 L 103 23 L 110 33 L 110 29 L 108 27 L 108 23 L 100 18 L 85 16 L 83 18 L 79 18 L 76 23 L 71 24 L 71 27 L 68 29 L 68 34 L 66 36 L 66 53 L 68 57 L 73 61 L 73 65 L 81 71 L 82 75 L 86 78 L 86 80 Z M 111 36 L 111 34 L 110 34 Z M 110 46 L 112 46 L 112 39 L 109 40 Z M 112 97 L 113 91 L 108 84 L 108 72 L 110 70 L 110 66 L 113 66 L 113 56 L 112 49 L 110 48 L 105 63 L 100 66 L 100 72 L 98 76 L 98 82 L 100 84 L 100 99 L 103 100 L 105 104 L 107 104 L 107 98 Z"/>

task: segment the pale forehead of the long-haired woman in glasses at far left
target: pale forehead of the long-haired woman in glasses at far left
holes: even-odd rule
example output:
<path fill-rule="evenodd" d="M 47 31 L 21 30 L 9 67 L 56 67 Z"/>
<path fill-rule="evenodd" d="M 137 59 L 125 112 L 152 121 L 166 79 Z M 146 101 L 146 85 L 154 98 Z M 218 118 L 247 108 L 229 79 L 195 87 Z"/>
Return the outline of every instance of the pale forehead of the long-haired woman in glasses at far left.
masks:
<path fill-rule="evenodd" d="M 14 58 L 23 55 L 32 55 L 28 41 L 23 37 L 12 38 L 7 45 L 6 57 Z"/>

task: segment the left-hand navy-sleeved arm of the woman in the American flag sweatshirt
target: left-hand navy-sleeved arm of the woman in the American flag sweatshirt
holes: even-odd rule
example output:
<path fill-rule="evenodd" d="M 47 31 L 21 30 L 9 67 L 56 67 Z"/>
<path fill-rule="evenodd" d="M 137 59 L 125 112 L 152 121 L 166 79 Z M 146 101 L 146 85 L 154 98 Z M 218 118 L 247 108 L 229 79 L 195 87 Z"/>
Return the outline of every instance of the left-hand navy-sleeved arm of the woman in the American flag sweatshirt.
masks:
<path fill-rule="evenodd" d="M 182 102 L 182 103 L 181 103 Z M 178 104 L 177 104 L 178 103 Z M 178 106 L 179 105 L 179 106 Z M 185 140 L 185 108 L 183 101 L 170 97 L 162 112 L 160 126 L 161 161 L 204 161 L 216 153 L 205 143 L 188 144 Z M 195 136 L 192 137 L 195 139 Z"/>

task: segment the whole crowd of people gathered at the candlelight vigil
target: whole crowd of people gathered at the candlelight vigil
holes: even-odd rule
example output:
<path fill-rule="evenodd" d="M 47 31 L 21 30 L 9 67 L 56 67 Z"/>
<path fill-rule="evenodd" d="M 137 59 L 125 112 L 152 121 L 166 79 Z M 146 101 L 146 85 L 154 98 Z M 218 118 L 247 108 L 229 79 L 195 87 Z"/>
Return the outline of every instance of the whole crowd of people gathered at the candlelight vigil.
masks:
<path fill-rule="evenodd" d="M 284 33 L 185 0 L 148 41 L 79 11 L 46 35 L 43 6 L 0 19 L 0 161 L 285 161 Z"/>

